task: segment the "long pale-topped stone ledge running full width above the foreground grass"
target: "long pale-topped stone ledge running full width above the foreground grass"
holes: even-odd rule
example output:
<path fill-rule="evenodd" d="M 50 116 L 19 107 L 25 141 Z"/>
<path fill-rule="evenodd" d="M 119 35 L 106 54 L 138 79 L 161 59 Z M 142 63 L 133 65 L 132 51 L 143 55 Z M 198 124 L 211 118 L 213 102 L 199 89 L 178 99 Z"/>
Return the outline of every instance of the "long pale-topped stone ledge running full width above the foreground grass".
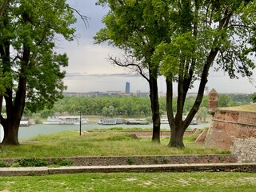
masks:
<path fill-rule="evenodd" d="M 63 166 L 63 167 L 4 167 L 1 176 L 26 176 L 46 174 L 118 173 L 118 172 L 192 172 L 232 171 L 256 173 L 256 163 L 206 163 L 206 164 L 165 164 L 130 166 Z"/>

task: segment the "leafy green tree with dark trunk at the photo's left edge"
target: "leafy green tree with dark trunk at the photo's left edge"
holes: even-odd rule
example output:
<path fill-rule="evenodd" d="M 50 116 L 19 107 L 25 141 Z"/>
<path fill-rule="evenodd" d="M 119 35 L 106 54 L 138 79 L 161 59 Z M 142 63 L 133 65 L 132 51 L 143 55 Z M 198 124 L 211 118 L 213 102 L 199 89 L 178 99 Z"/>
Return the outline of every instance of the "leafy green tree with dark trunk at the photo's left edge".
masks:
<path fill-rule="evenodd" d="M 2 76 L 9 78 L 2 97 L 3 144 L 18 145 L 18 127 L 24 107 L 31 111 L 51 107 L 66 86 L 62 66 L 66 54 L 54 52 L 56 35 L 73 40 L 76 21 L 66 0 L 9 1 L 0 20 Z M 59 36 L 58 36 L 59 37 Z"/>

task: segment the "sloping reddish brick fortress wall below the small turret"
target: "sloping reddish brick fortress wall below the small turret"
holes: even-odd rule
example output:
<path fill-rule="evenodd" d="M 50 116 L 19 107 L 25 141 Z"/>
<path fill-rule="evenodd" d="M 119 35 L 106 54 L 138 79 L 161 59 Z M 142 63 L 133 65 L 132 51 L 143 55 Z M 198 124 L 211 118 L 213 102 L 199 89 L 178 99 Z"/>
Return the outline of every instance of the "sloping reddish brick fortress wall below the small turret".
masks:
<path fill-rule="evenodd" d="M 222 150 L 230 150 L 234 146 L 236 139 L 246 138 L 256 138 L 255 112 L 216 110 L 212 125 L 206 135 L 205 144 L 206 146 L 213 146 Z M 240 149 L 241 147 L 239 146 L 238 148 Z M 255 148 L 251 150 L 254 151 Z M 246 153 L 250 153 L 248 149 L 240 149 L 238 151 L 247 151 Z"/>

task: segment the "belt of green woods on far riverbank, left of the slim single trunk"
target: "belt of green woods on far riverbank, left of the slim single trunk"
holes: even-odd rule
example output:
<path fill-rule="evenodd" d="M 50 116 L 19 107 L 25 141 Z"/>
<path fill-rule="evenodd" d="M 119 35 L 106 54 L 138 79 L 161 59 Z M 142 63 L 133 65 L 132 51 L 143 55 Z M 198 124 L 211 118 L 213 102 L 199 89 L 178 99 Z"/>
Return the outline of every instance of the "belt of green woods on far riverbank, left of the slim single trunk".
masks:
<path fill-rule="evenodd" d="M 165 106 L 162 106 L 164 109 Z M 85 98 L 65 97 L 55 103 L 53 110 L 44 110 L 45 117 L 54 113 L 68 112 L 78 114 L 81 110 L 83 115 L 102 116 L 150 116 L 150 99 L 138 97 L 106 97 L 106 98 Z"/>

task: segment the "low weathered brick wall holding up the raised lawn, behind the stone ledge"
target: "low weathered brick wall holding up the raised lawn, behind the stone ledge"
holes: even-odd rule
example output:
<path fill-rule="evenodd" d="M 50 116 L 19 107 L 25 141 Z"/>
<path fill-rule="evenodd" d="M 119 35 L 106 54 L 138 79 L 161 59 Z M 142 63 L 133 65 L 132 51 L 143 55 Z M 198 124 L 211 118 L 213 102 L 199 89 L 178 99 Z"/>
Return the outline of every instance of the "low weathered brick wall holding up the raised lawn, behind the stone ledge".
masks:
<path fill-rule="evenodd" d="M 53 158 L 45 158 L 53 162 Z M 118 165 L 155 165 L 155 164 L 184 164 L 184 163 L 233 163 L 238 162 L 236 154 L 210 155 L 142 155 L 142 156 L 110 156 L 110 157 L 67 157 L 73 166 L 118 166 Z M 0 158 L 2 162 L 17 162 L 18 159 Z"/>

